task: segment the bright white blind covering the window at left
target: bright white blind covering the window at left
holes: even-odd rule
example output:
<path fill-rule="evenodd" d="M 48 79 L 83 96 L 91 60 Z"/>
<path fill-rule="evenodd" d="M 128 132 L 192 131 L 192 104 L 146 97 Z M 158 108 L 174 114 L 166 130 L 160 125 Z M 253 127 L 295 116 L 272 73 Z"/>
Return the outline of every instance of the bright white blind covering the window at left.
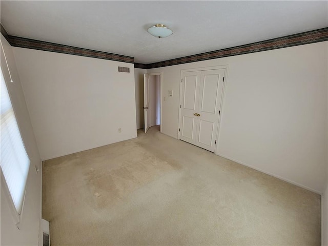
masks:
<path fill-rule="evenodd" d="M 30 159 L 20 136 L 4 75 L 1 71 L 1 169 L 16 211 L 22 210 Z"/>

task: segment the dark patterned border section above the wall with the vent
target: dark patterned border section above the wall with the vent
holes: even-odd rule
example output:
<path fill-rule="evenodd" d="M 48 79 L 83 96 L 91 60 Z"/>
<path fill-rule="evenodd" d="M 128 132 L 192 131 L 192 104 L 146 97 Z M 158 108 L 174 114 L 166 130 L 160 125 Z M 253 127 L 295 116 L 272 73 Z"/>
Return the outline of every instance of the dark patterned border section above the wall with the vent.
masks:
<path fill-rule="evenodd" d="M 134 63 L 134 58 L 131 56 L 117 55 L 108 52 L 77 48 L 68 45 L 59 45 L 59 44 L 29 39 L 25 37 L 10 36 L 8 35 L 8 33 L 6 32 L 5 28 L 2 25 L 1 25 L 1 33 L 8 40 L 9 44 L 14 47 L 51 51 L 51 52 L 64 53 L 70 55 L 80 55 L 80 56 L 87 56 L 87 57 L 93 57 L 99 59 L 123 61 L 124 63 Z"/>

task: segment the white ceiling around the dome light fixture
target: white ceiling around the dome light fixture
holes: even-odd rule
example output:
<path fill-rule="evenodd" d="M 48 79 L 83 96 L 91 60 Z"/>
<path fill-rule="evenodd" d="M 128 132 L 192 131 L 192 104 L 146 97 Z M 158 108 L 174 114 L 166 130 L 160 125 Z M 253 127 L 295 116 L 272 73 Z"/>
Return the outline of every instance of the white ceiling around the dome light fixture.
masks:
<path fill-rule="evenodd" d="M 327 1 L 1 1 L 9 35 L 155 63 L 328 26 Z M 147 28 L 165 24 L 173 35 Z"/>

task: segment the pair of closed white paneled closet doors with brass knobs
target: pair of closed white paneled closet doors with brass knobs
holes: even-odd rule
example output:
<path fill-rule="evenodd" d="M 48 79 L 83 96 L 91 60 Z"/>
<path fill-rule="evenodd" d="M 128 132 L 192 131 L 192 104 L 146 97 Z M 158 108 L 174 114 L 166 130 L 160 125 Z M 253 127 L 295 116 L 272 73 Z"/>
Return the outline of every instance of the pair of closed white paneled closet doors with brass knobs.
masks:
<path fill-rule="evenodd" d="M 225 69 L 182 73 L 180 139 L 215 152 Z"/>

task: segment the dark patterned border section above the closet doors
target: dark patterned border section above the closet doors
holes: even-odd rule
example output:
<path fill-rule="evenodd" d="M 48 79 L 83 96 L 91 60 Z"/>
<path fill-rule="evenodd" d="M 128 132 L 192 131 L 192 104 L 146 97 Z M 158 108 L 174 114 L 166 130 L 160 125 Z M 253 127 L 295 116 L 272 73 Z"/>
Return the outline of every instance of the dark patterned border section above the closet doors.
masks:
<path fill-rule="evenodd" d="M 317 42 L 323 42 L 328 40 L 328 27 L 302 32 L 294 35 L 273 38 L 265 40 L 262 42 L 252 43 L 248 45 L 236 46 L 232 48 L 216 50 L 206 53 L 201 53 L 197 55 L 190 55 L 185 57 L 180 57 L 171 60 L 159 61 L 158 63 L 147 64 L 147 69 L 167 67 L 178 64 L 193 63 L 195 61 L 209 60 L 233 55 L 242 55 L 255 53 L 260 51 L 281 49 L 286 47 L 292 47 L 297 45 L 305 45 Z"/>

